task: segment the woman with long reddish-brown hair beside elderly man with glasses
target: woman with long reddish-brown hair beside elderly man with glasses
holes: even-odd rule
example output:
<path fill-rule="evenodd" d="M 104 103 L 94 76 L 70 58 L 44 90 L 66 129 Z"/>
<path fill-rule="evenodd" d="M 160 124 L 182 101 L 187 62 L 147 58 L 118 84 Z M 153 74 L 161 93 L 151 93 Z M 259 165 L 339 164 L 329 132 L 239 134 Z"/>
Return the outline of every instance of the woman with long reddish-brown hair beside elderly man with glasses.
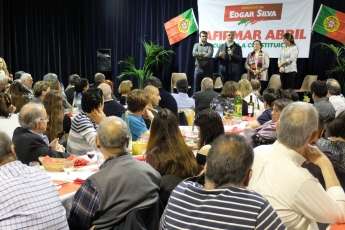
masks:
<path fill-rule="evenodd" d="M 52 141 L 63 135 L 64 107 L 61 93 L 57 90 L 48 92 L 43 100 L 43 104 L 49 116 L 46 135 L 49 141 Z"/>

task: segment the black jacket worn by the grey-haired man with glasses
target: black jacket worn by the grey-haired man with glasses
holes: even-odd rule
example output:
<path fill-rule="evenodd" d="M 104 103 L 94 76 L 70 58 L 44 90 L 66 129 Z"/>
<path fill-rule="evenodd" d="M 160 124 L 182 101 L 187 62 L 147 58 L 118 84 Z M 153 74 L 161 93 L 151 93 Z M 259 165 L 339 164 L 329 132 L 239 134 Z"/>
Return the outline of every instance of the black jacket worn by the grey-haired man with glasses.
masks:
<path fill-rule="evenodd" d="M 38 161 L 38 157 L 40 156 L 64 157 L 64 153 L 51 150 L 41 136 L 22 127 L 14 130 L 12 142 L 17 159 L 24 164 L 29 164 L 31 161 Z"/>

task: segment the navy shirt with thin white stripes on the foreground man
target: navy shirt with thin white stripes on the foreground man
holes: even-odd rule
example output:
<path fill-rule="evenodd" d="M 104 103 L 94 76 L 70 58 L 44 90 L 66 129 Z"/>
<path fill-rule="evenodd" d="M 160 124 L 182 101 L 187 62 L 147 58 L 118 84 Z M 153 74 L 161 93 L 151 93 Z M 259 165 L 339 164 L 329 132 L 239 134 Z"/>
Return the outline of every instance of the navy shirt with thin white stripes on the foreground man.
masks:
<path fill-rule="evenodd" d="M 193 181 L 172 192 L 160 229 L 285 229 L 259 194 L 239 187 L 204 190 Z"/>

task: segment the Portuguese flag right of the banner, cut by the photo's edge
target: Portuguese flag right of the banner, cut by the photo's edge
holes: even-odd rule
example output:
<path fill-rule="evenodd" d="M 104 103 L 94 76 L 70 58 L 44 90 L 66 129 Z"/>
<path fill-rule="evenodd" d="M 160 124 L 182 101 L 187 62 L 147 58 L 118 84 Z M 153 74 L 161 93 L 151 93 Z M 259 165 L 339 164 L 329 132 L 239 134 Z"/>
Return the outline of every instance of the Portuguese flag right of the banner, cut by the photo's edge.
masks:
<path fill-rule="evenodd" d="M 345 44 L 345 13 L 321 5 L 313 31 Z"/>

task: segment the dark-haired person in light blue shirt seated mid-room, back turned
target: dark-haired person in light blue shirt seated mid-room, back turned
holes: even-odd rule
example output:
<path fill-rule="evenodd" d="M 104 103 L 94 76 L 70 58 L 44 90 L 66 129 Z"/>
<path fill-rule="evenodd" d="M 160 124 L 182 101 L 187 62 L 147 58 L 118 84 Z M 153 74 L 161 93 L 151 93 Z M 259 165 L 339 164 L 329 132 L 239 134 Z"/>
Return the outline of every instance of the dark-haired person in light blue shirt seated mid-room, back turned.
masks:
<path fill-rule="evenodd" d="M 188 96 L 188 81 L 187 79 L 180 79 L 176 82 L 177 93 L 171 95 L 175 98 L 177 109 L 194 109 L 195 101 Z"/>

